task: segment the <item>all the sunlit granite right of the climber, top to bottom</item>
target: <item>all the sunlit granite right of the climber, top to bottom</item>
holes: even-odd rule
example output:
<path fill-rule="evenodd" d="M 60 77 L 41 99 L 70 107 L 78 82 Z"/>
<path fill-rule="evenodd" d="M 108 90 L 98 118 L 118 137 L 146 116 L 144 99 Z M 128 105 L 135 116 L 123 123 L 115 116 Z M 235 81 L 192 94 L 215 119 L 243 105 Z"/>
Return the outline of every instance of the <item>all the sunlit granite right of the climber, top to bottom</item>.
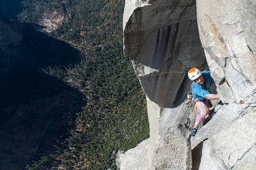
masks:
<path fill-rule="evenodd" d="M 200 40 L 217 92 L 226 104 L 195 138 L 200 170 L 255 169 L 255 1 L 197 1 Z"/>

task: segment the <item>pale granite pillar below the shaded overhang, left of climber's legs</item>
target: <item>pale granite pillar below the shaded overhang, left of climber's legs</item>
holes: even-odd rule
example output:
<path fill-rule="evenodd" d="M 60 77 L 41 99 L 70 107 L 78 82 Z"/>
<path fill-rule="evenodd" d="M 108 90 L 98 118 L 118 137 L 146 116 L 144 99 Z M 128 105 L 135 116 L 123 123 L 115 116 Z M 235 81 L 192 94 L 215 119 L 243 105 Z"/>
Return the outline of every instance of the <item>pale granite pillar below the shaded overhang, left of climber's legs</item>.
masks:
<path fill-rule="evenodd" d="M 188 109 L 162 108 L 147 97 L 150 138 L 120 153 L 120 169 L 190 169 L 190 136 L 184 123 Z"/>

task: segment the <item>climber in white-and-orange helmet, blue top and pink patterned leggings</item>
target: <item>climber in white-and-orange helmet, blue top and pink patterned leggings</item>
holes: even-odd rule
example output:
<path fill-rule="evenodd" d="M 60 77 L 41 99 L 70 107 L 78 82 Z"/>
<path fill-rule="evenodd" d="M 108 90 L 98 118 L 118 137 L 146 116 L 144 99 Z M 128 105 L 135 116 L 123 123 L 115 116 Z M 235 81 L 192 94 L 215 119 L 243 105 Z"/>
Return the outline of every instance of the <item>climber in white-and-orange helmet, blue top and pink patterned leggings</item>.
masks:
<path fill-rule="evenodd" d="M 204 121 L 206 115 L 209 114 L 211 108 L 211 99 L 220 99 L 220 95 L 211 94 L 209 92 L 210 86 L 210 71 L 200 71 L 197 68 L 189 69 L 189 79 L 193 81 L 191 84 L 191 95 L 193 101 L 193 108 L 196 108 L 200 113 L 195 119 L 195 125 L 191 130 L 191 135 L 195 136 L 198 132 L 198 125 Z"/>

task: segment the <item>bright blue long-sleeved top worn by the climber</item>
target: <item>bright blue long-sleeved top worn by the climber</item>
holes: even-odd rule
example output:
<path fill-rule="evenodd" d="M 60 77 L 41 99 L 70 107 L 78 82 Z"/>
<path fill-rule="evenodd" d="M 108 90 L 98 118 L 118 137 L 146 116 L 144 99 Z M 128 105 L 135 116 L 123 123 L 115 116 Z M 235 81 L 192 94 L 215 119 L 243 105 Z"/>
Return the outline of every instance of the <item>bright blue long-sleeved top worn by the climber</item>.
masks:
<path fill-rule="evenodd" d="M 195 101 L 205 102 L 206 94 L 210 93 L 208 90 L 206 90 L 206 87 L 210 86 L 210 71 L 202 71 L 202 76 L 204 77 L 204 85 L 193 82 L 191 84 L 191 92 Z"/>

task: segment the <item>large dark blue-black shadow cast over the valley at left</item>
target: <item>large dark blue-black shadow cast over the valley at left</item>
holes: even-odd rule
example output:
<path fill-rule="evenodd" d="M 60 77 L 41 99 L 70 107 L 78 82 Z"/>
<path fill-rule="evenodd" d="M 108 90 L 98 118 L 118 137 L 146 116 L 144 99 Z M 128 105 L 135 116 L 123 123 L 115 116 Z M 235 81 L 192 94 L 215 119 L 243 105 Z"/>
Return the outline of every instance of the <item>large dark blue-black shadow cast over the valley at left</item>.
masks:
<path fill-rule="evenodd" d="M 78 89 L 41 71 L 58 66 L 62 74 L 80 53 L 31 25 L 0 19 L 0 32 L 0 167 L 19 170 L 55 154 L 85 105 Z M 10 40 L 14 35 L 22 40 Z"/>

